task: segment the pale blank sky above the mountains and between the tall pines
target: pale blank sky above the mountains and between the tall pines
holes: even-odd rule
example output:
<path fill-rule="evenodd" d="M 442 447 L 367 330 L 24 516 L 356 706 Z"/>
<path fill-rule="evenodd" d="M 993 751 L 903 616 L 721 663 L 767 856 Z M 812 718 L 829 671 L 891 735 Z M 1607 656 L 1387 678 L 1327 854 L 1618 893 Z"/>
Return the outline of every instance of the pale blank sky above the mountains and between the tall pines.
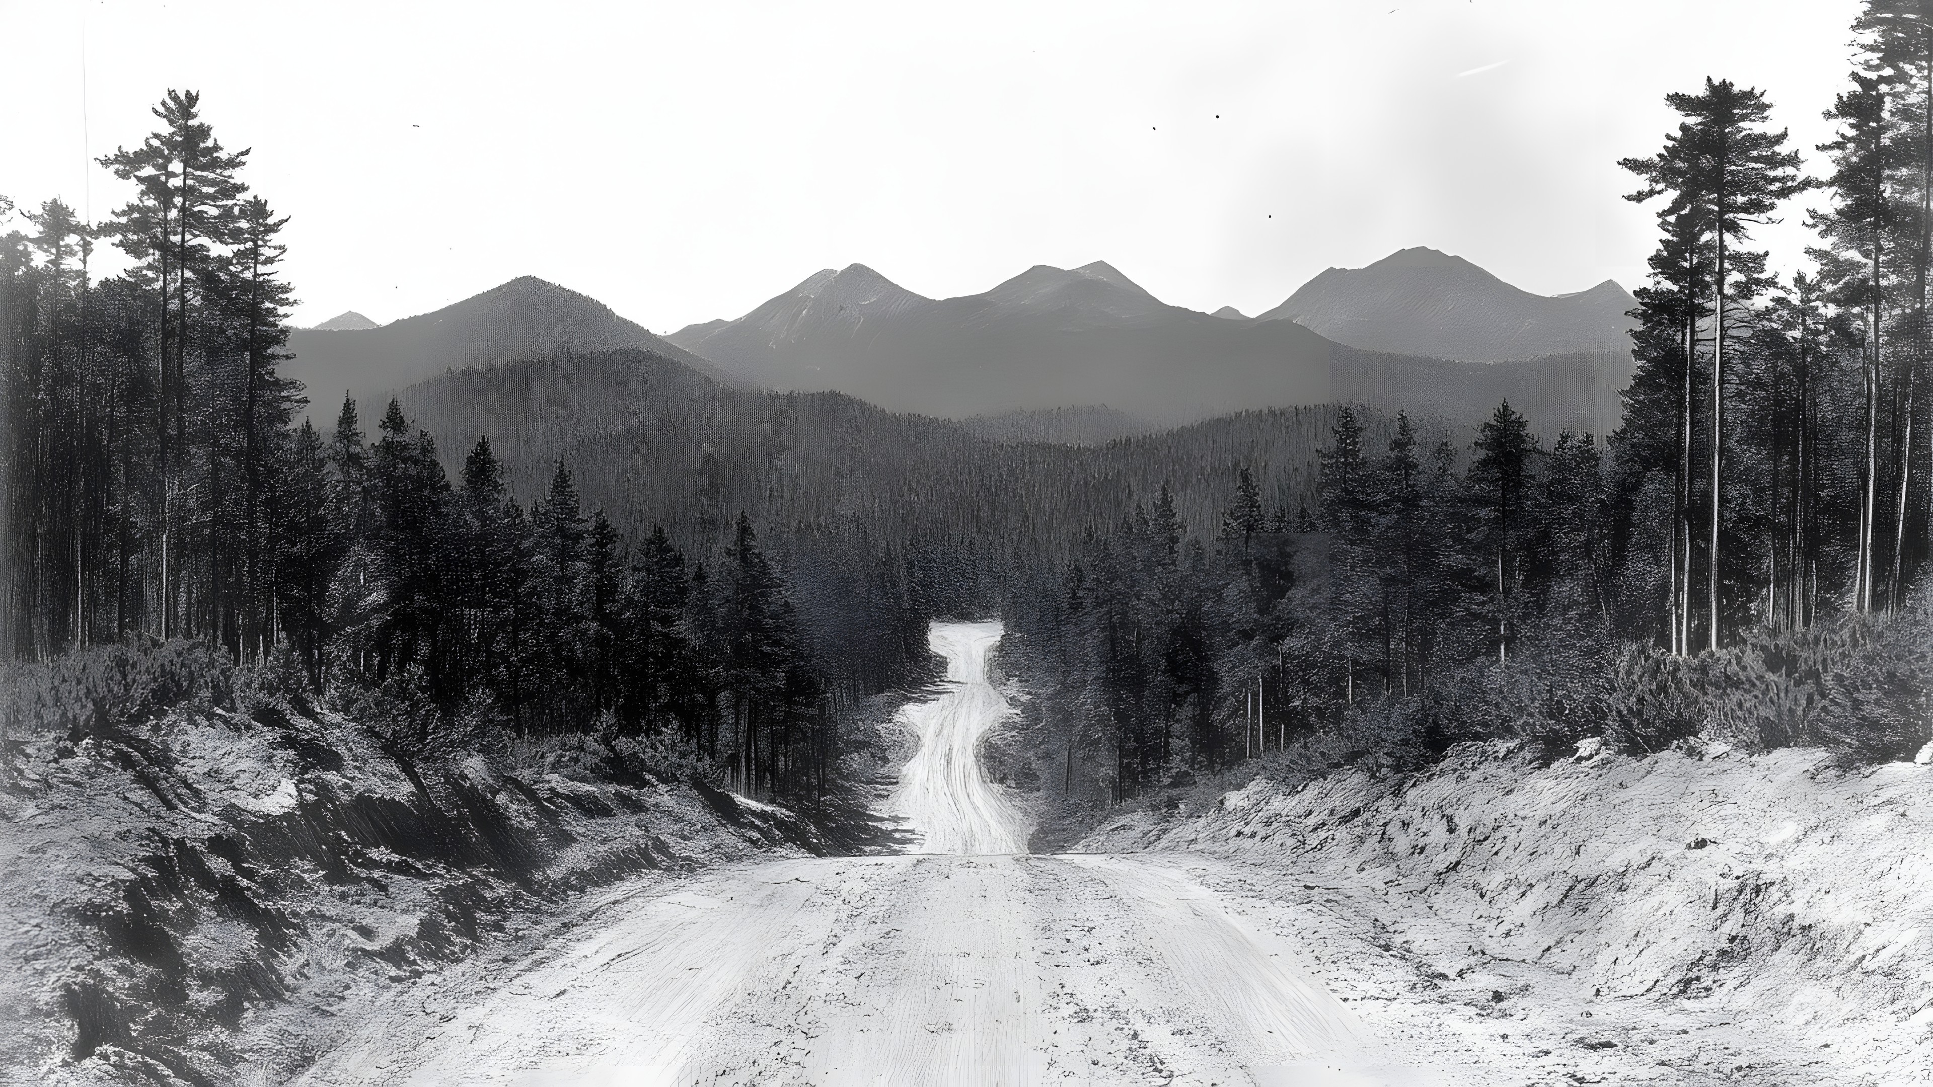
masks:
<path fill-rule="evenodd" d="M 0 193 L 106 217 L 87 157 L 193 87 L 292 217 L 296 323 L 537 275 L 667 331 L 852 261 L 941 298 L 1106 259 L 1255 313 L 1405 246 L 1635 286 L 1653 219 L 1616 159 L 1659 147 L 1662 95 L 1763 87 L 1817 164 L 1856 10 L 0 0 Z M 1802 213 L 1765 232 L 1784 267 Z"/>

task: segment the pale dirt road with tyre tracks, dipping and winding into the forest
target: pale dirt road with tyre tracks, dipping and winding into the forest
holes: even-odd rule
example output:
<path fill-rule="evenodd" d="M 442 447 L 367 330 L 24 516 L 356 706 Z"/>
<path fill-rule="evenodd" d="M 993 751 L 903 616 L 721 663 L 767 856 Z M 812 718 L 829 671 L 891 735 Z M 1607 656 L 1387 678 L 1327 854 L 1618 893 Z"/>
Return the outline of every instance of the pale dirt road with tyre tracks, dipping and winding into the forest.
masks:
<path fill-rule="evenodd" d="M 947 687 L 891 810 L 903 857 L 615 896 L 441 1015 L 371 1019 L 303 1083 L 1425 1083 L 1175 857 L 1030 857 L 974 762 L 997 623 L 936 623 Z M 414 1012 L 414 1010 L 412 1010 Z"/>

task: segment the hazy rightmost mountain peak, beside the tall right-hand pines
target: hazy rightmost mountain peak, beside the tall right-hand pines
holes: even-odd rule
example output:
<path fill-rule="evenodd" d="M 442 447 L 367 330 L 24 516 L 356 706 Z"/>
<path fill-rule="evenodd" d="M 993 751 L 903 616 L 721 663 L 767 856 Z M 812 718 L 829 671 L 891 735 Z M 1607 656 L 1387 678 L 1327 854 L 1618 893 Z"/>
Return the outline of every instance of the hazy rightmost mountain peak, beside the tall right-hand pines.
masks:
<path fill-rule="evenodd" d="M 1256 319 L 1289 319 L 1361 350 L 1500 362 L 1630 352 L 1624 313 L 1633 306 L 1612 280 L 1546 298 L 1463 257 L 1415 248 L 1363 269 L 1328 269 Z"/>

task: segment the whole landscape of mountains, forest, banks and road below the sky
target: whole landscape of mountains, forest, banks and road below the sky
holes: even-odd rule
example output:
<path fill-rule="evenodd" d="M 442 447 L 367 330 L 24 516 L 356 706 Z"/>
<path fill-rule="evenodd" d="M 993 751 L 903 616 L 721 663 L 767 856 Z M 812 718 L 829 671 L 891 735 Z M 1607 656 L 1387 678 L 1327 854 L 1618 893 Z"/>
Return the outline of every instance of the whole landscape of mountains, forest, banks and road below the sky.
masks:
<path fill-rule="evenodd" d="M 1817 149 L 1666 99 L 1641 282 L 663 333 L 298 327 L 157 89 L 0 195 L 0 1083 L 1933 1083 L 1933 6 L 1846 41 Z"/>

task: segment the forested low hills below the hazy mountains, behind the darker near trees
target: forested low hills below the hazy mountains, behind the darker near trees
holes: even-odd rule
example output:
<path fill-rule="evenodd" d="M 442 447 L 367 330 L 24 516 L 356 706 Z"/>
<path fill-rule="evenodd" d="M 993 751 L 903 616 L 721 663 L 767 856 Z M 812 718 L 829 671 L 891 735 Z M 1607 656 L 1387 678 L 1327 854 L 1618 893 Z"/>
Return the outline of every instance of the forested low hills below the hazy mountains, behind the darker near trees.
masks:
<path fill-rule="evenodd" d="M 1024 540 L 1059 547 L 1088 524 L 1117 522 L 1162 484 L 1212 534 L 1243 464 L 1270 507 L 1293 511 L 1313 497 L 1314 451 L 1336 418 L 1326 406 L 1289 408 L 1104 447 L 1011 443 L 839 393 L 725 387 L 642 350 L 452 371 L 402 402 L 452 472 L 483 433 L 524 499 L 568 460 L 586 503 L 628 534 L 661 522 L 709 545 L 746 511 L 794 540 L 864 524 L 895 547 L 951 542 L 988 553 Z M 1365 427 L 1380 449 L 1386 422 L 1370 414 Z M 1440 426 L 1425 431 L 1434 441 Z"/>

